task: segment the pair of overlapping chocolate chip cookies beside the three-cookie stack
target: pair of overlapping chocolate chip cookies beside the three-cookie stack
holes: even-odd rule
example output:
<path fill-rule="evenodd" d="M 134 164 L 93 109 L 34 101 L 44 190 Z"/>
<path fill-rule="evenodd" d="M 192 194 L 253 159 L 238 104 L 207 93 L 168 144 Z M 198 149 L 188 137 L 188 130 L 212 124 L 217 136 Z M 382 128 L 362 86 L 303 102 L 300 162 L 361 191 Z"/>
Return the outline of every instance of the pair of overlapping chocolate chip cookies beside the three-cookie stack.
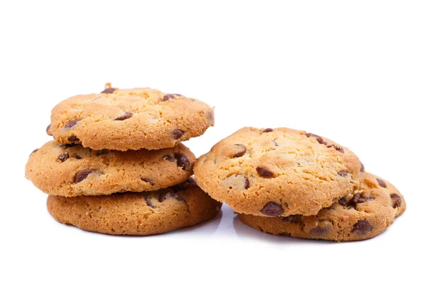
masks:
<path fill-rule="evenodd" d="M 194 167 L 198 185 L 240 221 L 275 235 L 364 240 L 405 211 L 388 181 L 364 171 L 348 148 L 288 128 L 242 128 Z"/>

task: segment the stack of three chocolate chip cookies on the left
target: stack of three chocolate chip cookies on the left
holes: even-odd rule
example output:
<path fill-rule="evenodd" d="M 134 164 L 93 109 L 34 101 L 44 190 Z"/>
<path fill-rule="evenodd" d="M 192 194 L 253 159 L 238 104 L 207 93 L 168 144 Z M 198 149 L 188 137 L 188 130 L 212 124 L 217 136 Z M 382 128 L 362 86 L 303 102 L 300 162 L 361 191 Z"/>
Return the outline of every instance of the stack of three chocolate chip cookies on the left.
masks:
<path fill-rule="evenodd" d="M 221 204 L 191 178 L 195 156 L 180 142 L 212 125 L 213 109 L 196 99 L 106 85 L 54 107 L 54 141 L 32 152 L 25 176 L 61 223 L 130 235 L 192 226 Z"/>

